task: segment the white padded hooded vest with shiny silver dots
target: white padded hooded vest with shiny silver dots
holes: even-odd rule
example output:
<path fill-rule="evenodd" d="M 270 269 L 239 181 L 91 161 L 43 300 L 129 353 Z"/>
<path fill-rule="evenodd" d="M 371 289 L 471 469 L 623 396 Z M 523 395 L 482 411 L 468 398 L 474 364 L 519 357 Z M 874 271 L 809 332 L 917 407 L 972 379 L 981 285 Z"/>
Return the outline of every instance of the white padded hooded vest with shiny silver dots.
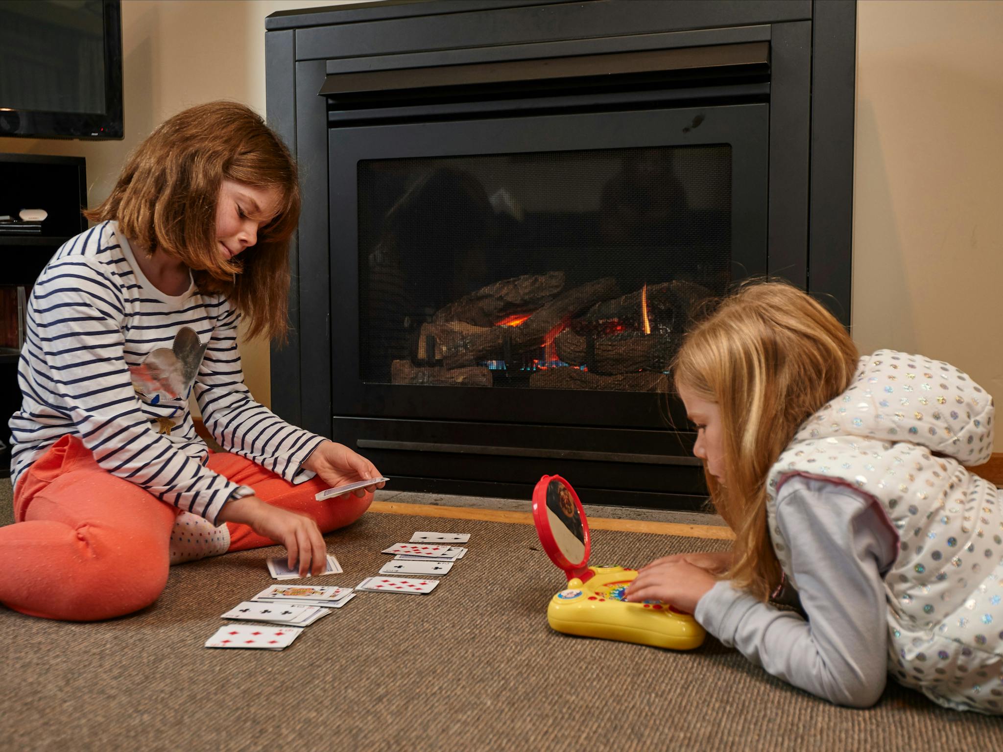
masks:
<path fill-rule="evenodd" d="M 957 368 L 879 350 L 798 429 L 767 476 L 770 536 L 787 581 L 776 494 L 792 475 L 881 504 L 899 536 L 885 575 L 889 672 L 935 702 L 1003 713 L 1003 513 L 965 469 L 989 459 L 993 400 Z"/>

